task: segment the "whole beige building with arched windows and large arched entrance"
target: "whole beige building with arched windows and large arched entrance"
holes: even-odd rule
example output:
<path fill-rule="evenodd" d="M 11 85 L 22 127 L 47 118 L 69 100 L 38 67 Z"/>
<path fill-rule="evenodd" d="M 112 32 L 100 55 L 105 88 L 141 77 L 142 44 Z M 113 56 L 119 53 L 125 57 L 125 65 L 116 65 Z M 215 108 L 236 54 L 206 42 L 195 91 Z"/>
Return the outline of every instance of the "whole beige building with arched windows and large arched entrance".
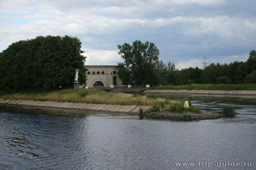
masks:
<path fill-rule="evenodd" d="M 116 66 L 85 66 L 88 69 L 87 86 L 90 87 L 122 87 L 117 75 Z"/>

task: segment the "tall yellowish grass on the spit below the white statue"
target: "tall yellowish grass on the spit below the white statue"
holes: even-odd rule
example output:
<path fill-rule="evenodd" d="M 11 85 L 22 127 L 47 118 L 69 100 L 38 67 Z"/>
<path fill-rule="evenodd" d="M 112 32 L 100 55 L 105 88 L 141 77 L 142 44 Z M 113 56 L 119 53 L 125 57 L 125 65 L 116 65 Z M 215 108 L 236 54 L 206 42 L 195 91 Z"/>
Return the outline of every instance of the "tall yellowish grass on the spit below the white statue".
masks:
<path fill-rule="evenodd" d="M 119 105 L 155 105 L 164 102 L 164 99 L 150 99 L 145 96 L 109 93 L 102 90 L 54 90 L 49 92 L 20 92 L 0 95 L 3 99 L 39 100 L 58 102 L 80 102 Z"/>

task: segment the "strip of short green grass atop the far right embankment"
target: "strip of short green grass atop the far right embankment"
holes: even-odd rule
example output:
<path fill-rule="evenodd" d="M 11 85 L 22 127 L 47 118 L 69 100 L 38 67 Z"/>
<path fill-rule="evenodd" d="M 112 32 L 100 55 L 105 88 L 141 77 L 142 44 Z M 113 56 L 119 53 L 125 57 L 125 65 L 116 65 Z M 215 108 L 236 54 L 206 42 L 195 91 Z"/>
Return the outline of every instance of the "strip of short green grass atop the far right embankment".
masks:
<path fill-rule="evenodd" d="M 155 86 L 156 90 L 256 90 L 256 84 L 191 84 Z"/>

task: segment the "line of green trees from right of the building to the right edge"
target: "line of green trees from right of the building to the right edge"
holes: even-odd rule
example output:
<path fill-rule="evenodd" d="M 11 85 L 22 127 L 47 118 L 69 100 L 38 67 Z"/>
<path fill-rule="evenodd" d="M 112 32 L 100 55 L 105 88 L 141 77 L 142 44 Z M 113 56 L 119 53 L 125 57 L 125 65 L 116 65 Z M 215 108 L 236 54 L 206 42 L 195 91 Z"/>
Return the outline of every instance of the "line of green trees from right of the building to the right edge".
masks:
<path fill-rule="evenodd" d="M 256 51 L 252 50 L 246 62 L 210 64 L 177 70 L 174 63 L 159 60 L 159 50 L 154 43 L 139 40 L 132 45 L 118 45 L 118 54 L 123 58 L 117 64 L 118 76 L 123 84 L 132 85 L 185 85 L 185 84 L 242 84 L 256 83 Z"/>

